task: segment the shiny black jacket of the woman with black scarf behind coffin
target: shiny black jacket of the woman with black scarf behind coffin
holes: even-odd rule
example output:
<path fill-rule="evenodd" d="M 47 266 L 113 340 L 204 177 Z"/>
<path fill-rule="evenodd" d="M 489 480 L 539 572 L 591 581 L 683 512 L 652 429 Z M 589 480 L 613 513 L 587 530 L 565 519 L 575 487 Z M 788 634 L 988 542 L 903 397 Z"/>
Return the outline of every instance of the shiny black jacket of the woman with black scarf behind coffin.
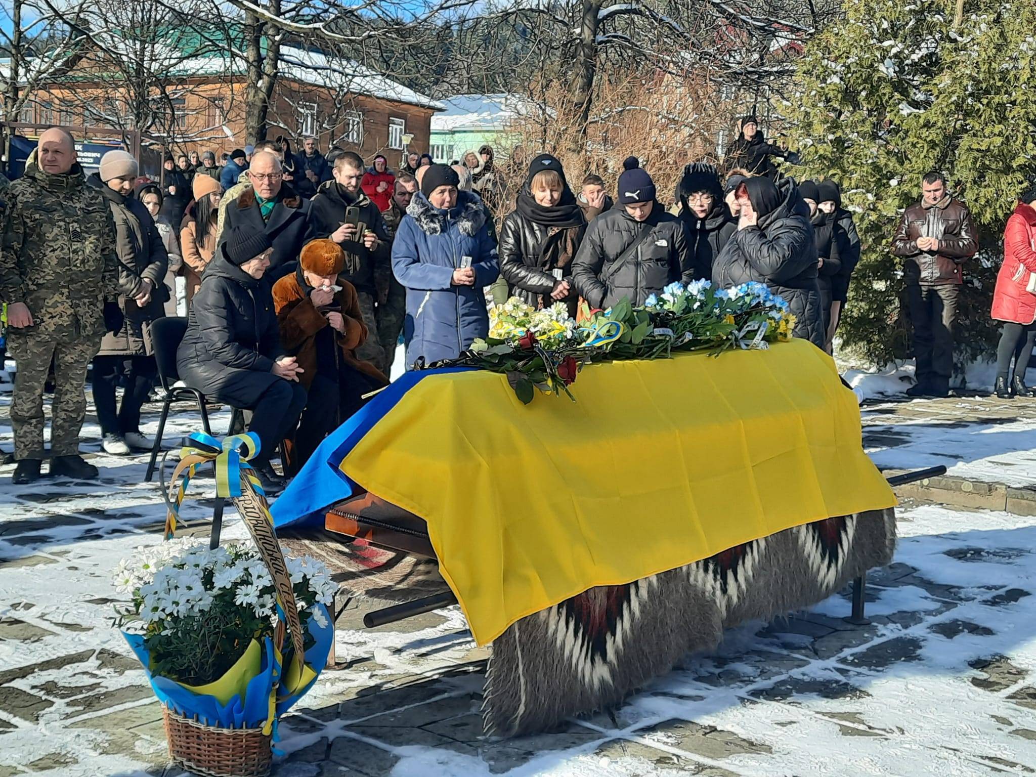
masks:
<path fill-rule="evenodd" d="M 586 233 L 586 225 L 570 227 L 575 244 L 579 246 Z M 499 259 L 500 275 L 508 282 L 513 296 L 520 297 L 534 308 L 553 305 L 550 292 L 557 283 L 551 271 L 553 267 L 544 267 L 541 262 L 541 252 L 547 238 L 550 237 L 548 227 L 536 224 L 531 219 L 515 210 L 508 214 L 500 226 Z M 564 238 L 564 236 L 563 236 Z M 572 285 L 572 265 L 562 269 L 563 278 Z M 575 295 L 575 292 L 572 292 Z"/>

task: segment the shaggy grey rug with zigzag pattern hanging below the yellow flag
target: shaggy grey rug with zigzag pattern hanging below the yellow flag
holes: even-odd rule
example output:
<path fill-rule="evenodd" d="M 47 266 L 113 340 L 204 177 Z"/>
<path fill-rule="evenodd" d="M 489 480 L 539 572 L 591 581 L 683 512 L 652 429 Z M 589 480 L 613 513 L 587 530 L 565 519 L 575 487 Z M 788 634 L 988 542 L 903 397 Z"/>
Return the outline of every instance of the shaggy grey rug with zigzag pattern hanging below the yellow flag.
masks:
<path fill-rule="evenodd" d="M 815 604 L 889 564 L 895 538 L 892 509 L 829 518 L 522 618 L 493 642 L 486 732 L 543 731 L 613 707 L 686 654 L 715 648 L 725 628 Z"/>

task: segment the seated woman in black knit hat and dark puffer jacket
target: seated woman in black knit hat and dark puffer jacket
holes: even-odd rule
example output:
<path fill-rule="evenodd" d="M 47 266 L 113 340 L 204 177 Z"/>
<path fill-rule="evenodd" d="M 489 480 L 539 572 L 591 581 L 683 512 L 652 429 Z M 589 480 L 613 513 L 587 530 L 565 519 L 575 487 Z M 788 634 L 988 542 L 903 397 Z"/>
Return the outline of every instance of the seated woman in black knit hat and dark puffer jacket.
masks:
<path fill-rule="evenodd" d="M 272 246 L 261 231 L 224 232 L 217 256 L 205 267 L 191 303 L 188 330 L 176 368 L 189 386 L 208 399 L 253 410 L 249 431 L 261 449 L 252 461 L 267 492 L 283 488 L 269 465 L 306 405 L 301 370 L 281 348 L 270 286 L 263 278 Z"/>

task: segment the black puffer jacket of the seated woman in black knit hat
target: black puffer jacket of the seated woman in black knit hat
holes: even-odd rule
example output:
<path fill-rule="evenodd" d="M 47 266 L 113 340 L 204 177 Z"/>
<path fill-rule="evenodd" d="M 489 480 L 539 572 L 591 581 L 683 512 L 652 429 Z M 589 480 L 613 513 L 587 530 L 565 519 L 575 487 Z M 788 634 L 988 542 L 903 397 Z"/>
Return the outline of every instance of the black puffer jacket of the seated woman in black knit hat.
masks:
<path fill-rule="evenodd" d="M 191 301 L 176 369 L 188 385 L 206 395 L 233 385 L 236 394 L 243 390 L 258 397 L 281 379 L 270 370 L 284 355 L 269 282 L 229 262 L 225 244 L 218 251 Z M 241 371 L 255 373 L 247 385 L 241 384 Z M 241 401 L 247 404 L 250 398 L 242 396 Z"/>

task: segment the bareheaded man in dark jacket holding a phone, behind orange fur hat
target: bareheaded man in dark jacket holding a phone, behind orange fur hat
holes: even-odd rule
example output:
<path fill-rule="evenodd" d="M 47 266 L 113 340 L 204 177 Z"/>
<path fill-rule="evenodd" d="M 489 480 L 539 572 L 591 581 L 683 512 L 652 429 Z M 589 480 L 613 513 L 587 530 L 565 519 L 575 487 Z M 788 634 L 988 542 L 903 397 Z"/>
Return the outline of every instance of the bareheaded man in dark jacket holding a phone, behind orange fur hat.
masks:
<path fill-rule="evenodd" d="M 391 261 L 391 243 L 384 220 L 371 198 L 364 192 L 361 181 L 365 166 L 359 154 L 345 151 L 335 160 L 333 180 L 320 186 L 313 198 L 308 240 L 326 237 L 345 252 L 342 280 L 356 289 L 359 310 L 369 332 L 377 332 L 374 301 L 377 298 L 375 277 L 383 272 L 382 265 Z M 349 219 L 355 208 L 355 223 Z M 377 338 L 369 338 L 356 349 L 356 357 L 370 362 L 382 372 L 391 366 L 392 354 L 385 354 Z"/>

